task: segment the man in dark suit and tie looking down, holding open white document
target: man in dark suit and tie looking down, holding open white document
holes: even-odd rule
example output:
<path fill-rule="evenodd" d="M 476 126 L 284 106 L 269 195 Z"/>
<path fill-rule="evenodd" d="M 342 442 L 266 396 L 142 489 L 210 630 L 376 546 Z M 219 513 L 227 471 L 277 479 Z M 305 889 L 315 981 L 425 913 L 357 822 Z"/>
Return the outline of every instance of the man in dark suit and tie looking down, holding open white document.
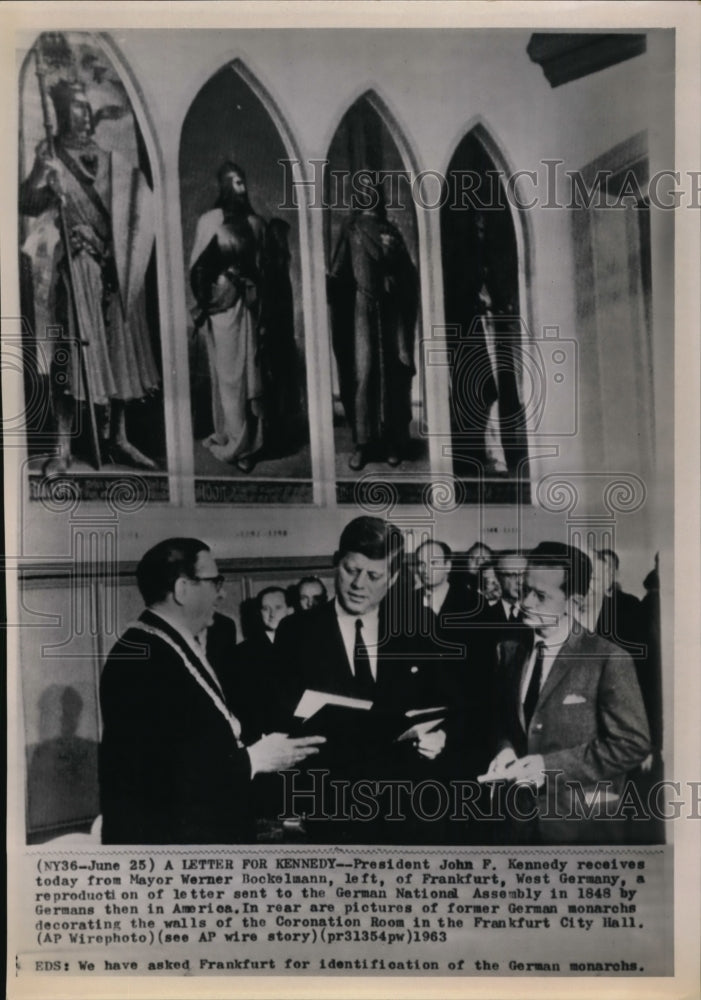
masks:
<path fill-rule="evenodd" d="M 286 804 L 304 806 L 316 840 L 426 836 L 397 801 L 388 798 L 379 808 L 369 803 L 378 782 L 390 794 L 393 783 L 398 796 L 425 779 L 446 743 L 442 722 L 450 691 L 410 589 L 398 586 L 403 557 L 396 526 L 356 518 L 334 557 L 334 600 L 286 619 L 278 630 L 279 662 L 294 678 L 297 695 L 293 725 L 327 737 L 313 771 L 288 776 L 293 794 Z M 367 807 L 354 809 L 361 791 Z"/>

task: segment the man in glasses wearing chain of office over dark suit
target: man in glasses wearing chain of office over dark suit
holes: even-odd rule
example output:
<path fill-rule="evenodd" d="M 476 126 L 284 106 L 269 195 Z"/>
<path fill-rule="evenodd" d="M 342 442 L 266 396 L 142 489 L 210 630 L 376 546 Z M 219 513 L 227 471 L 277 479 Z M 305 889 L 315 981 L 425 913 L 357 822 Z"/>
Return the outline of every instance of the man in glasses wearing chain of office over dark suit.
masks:
<path fill-rule="evenodd" d="M 146 610 L 100 682 L 105 844 L 230 844 L 253 835 L 251 778 L 292 767 L 319 740 L 274 733 L 246 747 L 198 636 L 223 577 L 209 548 L 170 538 L 137 567 Z"/>

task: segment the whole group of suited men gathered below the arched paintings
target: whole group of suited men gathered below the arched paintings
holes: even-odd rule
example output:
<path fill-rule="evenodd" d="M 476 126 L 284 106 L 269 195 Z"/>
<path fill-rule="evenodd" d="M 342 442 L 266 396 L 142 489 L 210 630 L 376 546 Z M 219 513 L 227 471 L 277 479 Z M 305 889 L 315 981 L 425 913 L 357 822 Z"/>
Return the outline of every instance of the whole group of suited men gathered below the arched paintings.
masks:
<path fill-rule="evenodd" d="M 104 843 L 659 836 L 638 808 L 662 739 L 656 572 L 645 607 L 611 550 L 408 556 L 373 517 L 334 567 L 330 599 L 315 576 L 262 590 L 237 642 L 207 545 L 146 553 L 146 610 L 101 680 Z"/>

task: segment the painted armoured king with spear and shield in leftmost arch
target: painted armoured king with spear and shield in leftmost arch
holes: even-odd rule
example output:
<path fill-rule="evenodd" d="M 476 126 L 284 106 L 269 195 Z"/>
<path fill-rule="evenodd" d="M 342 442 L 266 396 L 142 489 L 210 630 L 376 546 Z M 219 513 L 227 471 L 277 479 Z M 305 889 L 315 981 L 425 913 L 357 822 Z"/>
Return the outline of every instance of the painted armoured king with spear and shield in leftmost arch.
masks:
<path fill-rule="evenodd" d="M 102 459 L 153 470 L 153 460 L 129 441 L 126 420 L 127 404 L 151 396 L 161 381 L 145 292 L 153 192 L 138 167 L 95 140 L 100 111 L 93 112 L 82 83 L 61 79 L 50 96 L 58 126 L 55 155 L 43 140 L 19 193 L 24 215 L 47 212 L 60 231 L 62 214 L 67 241 L 59 244 L 54 273 L 45 279 L 62 349 L 51 365 L 57 454 L 44 472 L 70 469 L 75 417 L 87 402 L 98 410 Z M 124 114 L 126 108 L 114 108 L 111 116 Z"/>

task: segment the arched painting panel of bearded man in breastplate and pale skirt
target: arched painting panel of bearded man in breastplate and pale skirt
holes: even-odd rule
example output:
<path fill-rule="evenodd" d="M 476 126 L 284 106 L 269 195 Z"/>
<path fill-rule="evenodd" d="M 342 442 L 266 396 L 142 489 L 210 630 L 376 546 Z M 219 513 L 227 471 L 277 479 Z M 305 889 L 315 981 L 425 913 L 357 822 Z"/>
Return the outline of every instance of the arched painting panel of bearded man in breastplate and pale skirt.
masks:
<path fill-rule="evenodd" d="M 289 130 L 278 123 L 283 123 L 282 115 L 270 96 L 243 63 L 235 60 L 201 87 L 182 127 L 180 193 L 185 286 L 192 317 L 195 496 L 200 502 L 311 499 L 300 220 L 295 199 L 290 196 L 291 173 L 285 164 L 298 155 Z M 248 275 L 252 286 L 247 320 L 248 374 L 242 379 L 229 378 L 227 373 L 234 371 L 241 359 L 219 350 L 213 333 L 218 321 L 201 308 L 193 286 L 193 266 L 204 269 L 206 265 L 207 276 L 216 277 L 232 263 L 220 253 L 223 231 L 219 227 L 226 226 L 222 211 L 214 214 L 222 208 L 218 174 L 227 162 L 235 163 L 245 175 L 250 208 L 243 213 L 248 220 L 243 227 L 256 258 Z M 206 233 L 205 242 L 210 246 L 210 225 L 214 225 L 211 235 L 215 246 L 203 257 L 205 248 L 200 239 L 205 239 L 202 234 Z M 215 230 L 220 233 L 218 242 Z M 240 262 L 234 260 L 233 264 L 238 268 Z M 242 329 L 237 323 L 232 317 L 233 339 Z M 248 443 L 237 452 L 235 446 L 229 448 L 225 443 L 229 432 L 227 440 L 235 437 L 236 418 L 227 424 L 218 404 L 235 408 L 236 400 L 243 398 L 243 419 L 250 430 L 244 431 Z M 249 457 L 250 462 L 242 462 L 242 457 Z M 251 466 L 248 470 L 247 464 Z M 261 484 L 261 479 L 267 483 Z"/>

